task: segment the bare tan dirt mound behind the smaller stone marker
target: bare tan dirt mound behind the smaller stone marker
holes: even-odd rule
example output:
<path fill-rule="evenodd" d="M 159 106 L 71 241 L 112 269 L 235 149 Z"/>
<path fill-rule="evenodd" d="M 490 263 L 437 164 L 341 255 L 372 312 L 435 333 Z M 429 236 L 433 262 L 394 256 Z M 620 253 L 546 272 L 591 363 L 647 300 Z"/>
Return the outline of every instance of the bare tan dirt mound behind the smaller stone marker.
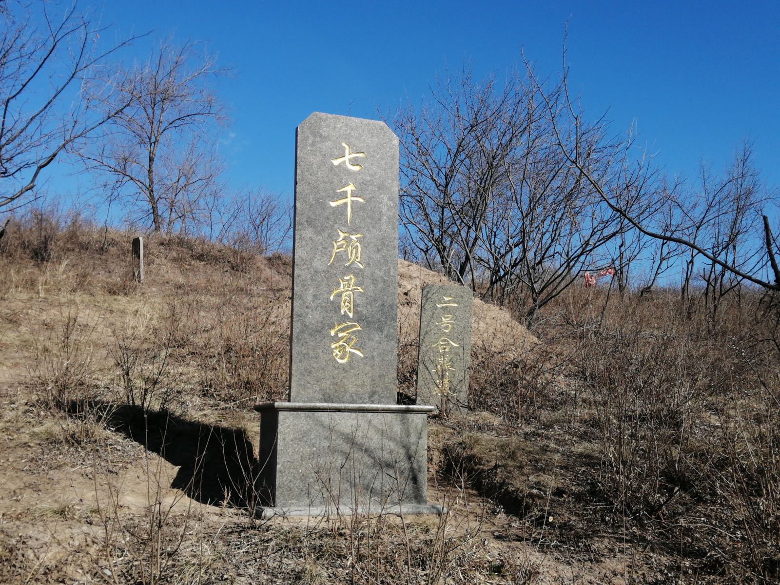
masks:
<path fill-rule="evenodd" d="M 417 338 L 424 285 L 447 284 L 444 275 L 405 260 L 398 261 L 398 321 L 402 339 Z M 537 346 L 540 341 L 505 310 L 474 299 L 471 345 L 507 357 Z"/>

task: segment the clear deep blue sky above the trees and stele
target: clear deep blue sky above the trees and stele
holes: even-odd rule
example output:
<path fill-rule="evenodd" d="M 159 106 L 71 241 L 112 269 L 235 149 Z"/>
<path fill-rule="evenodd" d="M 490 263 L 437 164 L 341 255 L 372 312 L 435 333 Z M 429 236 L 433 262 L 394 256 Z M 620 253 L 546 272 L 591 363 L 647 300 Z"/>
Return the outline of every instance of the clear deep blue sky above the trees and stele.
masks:
<path fill-rule="evenodd" d="M 233 73 L 218 87 L 232 122 L 232 186 L 293 192 L 295 127 L 311 112 L 378 118 L 419 103 L 437 74 L 473 63 L 502 76 L 521 50 L 543 75 L 561 66 L 615 132 L 632 122 L 670 174 L 721 168 L 743 139 L 780 185 L 778 2 L 84 3 L 119 37 L 154 30 L 206 41 Z M 137 43 L 141 55 L 144 43 Z"/>

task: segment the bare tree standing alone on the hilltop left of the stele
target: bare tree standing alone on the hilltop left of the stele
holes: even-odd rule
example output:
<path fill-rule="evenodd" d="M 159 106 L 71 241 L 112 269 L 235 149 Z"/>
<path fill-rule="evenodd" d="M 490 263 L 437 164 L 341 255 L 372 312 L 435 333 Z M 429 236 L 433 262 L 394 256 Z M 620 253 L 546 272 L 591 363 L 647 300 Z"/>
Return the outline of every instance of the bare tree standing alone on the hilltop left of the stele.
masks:
<path fill-rule="evenodd" d="M 213 90 L 220 73 L 197 44 L 161 41 L 116 88 L 129 107 L 112 118 L 104 140 L 83 145 L 83 159 L 110 179 L 112 196 L 143 210 L 154 232 L 186 231 L 207 207 L 204 199 L 221 192 L 211 134 L 224 119 Z"/>

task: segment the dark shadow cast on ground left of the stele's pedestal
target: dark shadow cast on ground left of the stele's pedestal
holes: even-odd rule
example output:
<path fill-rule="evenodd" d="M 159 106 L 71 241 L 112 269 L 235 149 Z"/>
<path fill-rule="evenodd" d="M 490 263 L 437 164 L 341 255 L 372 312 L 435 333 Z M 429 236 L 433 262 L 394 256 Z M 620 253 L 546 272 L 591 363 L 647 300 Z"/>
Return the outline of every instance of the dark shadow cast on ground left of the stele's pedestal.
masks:
<path fill-rule="evenodd" d="M 83 413 L 83 406 L 72 404 L 68 410 Z M 193 422 L 165 410 L 144 413 L 127 404 L 94 404 L 90 410 L 105 413 L 107 427 L 178 466 L 172 488 L 204 504 L 254 507 L 259 466 L 243 430 Z"/>

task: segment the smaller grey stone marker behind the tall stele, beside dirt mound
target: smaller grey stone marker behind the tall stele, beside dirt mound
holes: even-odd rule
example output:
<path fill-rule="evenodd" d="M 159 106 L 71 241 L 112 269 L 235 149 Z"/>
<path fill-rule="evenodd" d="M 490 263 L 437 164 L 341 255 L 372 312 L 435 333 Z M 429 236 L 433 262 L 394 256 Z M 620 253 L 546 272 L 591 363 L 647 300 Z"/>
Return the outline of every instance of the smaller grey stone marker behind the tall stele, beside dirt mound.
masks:
<path fill-rule="evenodd" d="M 442 413 L 463 412 L 469 398 L 471 365 L 470 289 L 459 285 L 423 287 L 417 404 Z"/>

